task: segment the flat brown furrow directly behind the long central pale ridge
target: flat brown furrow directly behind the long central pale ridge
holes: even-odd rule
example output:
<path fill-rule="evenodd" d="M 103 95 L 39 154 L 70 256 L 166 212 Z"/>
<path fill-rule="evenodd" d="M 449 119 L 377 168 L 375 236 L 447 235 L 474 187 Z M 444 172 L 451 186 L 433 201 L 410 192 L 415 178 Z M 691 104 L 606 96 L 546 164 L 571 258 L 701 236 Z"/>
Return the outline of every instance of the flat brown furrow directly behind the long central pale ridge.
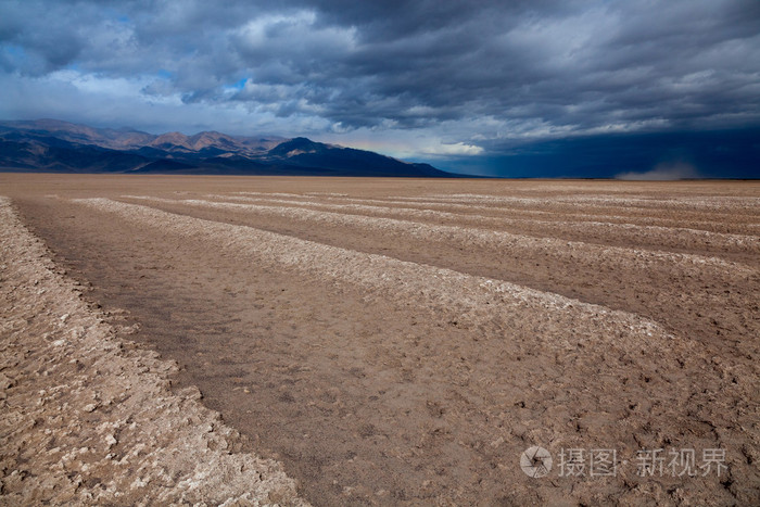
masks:
<path fill-rule="evenodd" d="M 711 263 L 701 264 L 701 268 L 684 265 L 667 249 L 651 252 L 654 255 L 643 251 L 639 256 L 636 243 L 617 250 L 623 255 L 613 255 L 605 244 L 585 241 L 568 244 L 552 237 L 517 235 L 506 237 L 515 241 L 506 241 L 498 230 L 489 233 L 464 225 L 441 230 L 435 224 L 411 220 L 378 224 L 373 217 L 325 215 L 314 211 L 304 215 L 288 210 L 281 213 L 268 206 L 263 210 L 220 207 L 206 206 L 206 202 L 193 204 L 187 200 L 153 198 L 149 198 L 149 202 L 151 207 L 169 213 L 249 225 L 365 253 L 382 253 L 632 312 L 693 340 L 713 343 L 719 355 L 725 353 L 726 341 L 722 335 L 757 335 L 758 320 L 751 316 L 751 308 L 756 307 L 752 294 L 757 290 L 753 288 L 760 280 L 756 263 L 714 259 L 700 250 L 689 250 L 687 254 L 697 255 L 686 257 Z M 477 237 L 473 238 L 472 231 Z M 662 236 L 657 235 L 657 238 Z M 688 303 L 677 303 L 683 301 Z M 735 357 L 757 350 L 757 343 L 744 340 L 742 348 L 745 352 L 735 351 Z"/>

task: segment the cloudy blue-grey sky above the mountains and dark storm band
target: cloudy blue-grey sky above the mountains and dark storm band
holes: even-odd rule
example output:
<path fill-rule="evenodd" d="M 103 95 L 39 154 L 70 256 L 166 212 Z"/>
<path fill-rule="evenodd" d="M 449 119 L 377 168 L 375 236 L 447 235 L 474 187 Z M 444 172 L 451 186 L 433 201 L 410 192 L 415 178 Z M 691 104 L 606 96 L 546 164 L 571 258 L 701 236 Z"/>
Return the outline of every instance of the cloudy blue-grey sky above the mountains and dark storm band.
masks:
<path fill-rule="evenodd" d="M 0 0 L 0 90 L 5 119 L 477 172 L 530 142 L 760 126 L 760 1 Z"/>

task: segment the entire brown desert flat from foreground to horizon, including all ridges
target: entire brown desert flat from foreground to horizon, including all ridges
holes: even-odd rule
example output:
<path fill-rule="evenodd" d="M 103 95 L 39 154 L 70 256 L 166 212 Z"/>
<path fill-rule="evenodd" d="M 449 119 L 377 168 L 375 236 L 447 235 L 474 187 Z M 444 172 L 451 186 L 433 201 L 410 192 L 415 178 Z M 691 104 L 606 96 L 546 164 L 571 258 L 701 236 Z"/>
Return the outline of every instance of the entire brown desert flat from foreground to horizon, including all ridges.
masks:
<path fill-rule="evenodd" d="M 759 182 L 0 195 L 0 504 L 760 505 Z"/>

